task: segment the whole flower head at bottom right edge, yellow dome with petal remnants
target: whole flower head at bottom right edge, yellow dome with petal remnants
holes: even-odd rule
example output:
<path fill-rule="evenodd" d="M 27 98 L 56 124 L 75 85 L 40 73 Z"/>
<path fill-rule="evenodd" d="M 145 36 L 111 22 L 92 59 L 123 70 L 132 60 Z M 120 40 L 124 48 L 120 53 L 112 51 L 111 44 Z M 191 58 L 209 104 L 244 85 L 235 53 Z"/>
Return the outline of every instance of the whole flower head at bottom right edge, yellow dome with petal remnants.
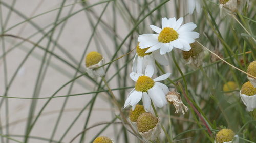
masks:
<path fill-rule="evenodd" d="M 230 129 L 222 129 L 216 135 L 217 142 L 216 143 L 238 143 L 239 137 L 238 135 L 234 135 L 234 132 Z"/>

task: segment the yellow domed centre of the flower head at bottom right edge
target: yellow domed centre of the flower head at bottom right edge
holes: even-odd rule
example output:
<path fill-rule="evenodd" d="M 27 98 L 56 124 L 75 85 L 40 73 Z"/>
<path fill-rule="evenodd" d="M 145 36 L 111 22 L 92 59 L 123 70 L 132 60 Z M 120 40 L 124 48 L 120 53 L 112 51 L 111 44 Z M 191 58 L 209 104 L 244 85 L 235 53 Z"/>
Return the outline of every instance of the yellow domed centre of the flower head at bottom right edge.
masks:
<path fill-rule="evenodd" d="M 232 141 L 234 138 L 234 132 L 230 129 L 222 129 L 218 132 L 216 137 L 217 143 Z"/>

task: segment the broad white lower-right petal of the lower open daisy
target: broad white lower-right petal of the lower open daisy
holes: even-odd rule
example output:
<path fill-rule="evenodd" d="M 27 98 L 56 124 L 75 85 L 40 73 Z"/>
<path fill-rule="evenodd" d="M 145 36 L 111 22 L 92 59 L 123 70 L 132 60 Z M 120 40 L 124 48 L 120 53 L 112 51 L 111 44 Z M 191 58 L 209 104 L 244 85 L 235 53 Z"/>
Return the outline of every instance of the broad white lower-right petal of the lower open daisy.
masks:
<path fill-rule="evenodd" d="M 163 107 L 167 103 L 165 94 L 157 86 L 154 86 L 153 88 L 149 89 L 148 95 L 152 99 L 153 103 L 159 108 Z"/>

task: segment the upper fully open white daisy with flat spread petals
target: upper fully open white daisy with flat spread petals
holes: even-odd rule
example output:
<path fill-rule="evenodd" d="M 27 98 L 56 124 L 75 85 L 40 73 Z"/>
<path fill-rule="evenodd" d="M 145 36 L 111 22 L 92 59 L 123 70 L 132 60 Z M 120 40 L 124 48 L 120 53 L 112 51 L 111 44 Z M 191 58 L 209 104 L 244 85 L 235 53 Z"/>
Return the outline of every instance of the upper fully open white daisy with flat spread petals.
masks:
<path fill-rule="evenodd" d="M 139 36 L 138 41 L 141 49 L 150 47 L 145 53 L 149 53 L 160 49 L 160 54 L 173 50 L 173 47 L 189 51 L 191 49 L 190 43 L 195 42 L 199 37 L 199 33 L 194 32 L 197 25 L 190 22 L 181 26 L 183 17 L 176 21 L 176 18 L 162 18 L 162 29 L 150 25 L 153 31 L 158 34 L 142 34 Z"/>

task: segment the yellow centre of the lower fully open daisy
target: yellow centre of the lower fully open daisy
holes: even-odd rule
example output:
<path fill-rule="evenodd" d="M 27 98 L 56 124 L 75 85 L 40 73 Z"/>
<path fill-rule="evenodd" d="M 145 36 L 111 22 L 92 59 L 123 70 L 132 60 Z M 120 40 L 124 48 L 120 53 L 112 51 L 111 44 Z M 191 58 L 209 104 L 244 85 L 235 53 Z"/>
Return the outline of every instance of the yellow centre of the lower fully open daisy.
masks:
<path fill-rule="evenodd" d="M 154 86 L 155 82 L 148 76 L 140 76 L 135 84 L 135 90 L 140 92 L 147 92 Z"/>

